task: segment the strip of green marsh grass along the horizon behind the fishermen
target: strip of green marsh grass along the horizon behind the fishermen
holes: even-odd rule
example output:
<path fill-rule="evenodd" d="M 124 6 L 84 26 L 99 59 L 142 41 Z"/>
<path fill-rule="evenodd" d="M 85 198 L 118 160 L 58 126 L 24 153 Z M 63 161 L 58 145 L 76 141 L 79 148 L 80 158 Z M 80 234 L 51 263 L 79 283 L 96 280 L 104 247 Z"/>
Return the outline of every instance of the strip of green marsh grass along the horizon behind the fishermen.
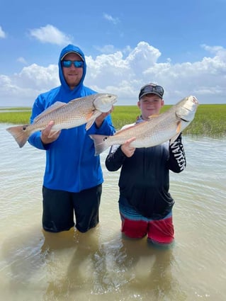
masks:
<path fill-rule="evenodd" d="M 169 109 L 169 105 L 162 108 L 162 112 Z M 6 108 L 4 108 L 6 110 Z M 11 108 L 7 112 L 0 108 L 0 123 L 26 124 L 30 120 L 30 108 Z M 18 112 L 13 112 L 18 110 Z M 26 110 L 26 111 L 23 111 Z M 115 106 L 111 114 L 116 130 L 123 125 L 134 123 L 140 114 L 137 106 Z M 226 135 L 226 104 L 200 105 L 195 119 L 188 125 L 183 135 L 203 135 L 207 137 L 223 137 Z"/>

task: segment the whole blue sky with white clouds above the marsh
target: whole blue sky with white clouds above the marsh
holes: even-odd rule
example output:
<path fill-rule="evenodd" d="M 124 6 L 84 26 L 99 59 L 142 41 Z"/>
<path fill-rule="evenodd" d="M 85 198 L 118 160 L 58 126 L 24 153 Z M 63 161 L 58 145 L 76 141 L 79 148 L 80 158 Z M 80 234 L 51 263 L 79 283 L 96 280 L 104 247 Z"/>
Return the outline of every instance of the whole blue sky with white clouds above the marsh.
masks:
<path fill-rule="evenodd" d="M 150 82 L 166 104 L 226 103 L 225 11 L 226 0 L 1 0 L 0 107 L 59 86 L 68 44 L 85 54 L 84 84 L 115 93 L 116 106 L 136 105 Z"/>

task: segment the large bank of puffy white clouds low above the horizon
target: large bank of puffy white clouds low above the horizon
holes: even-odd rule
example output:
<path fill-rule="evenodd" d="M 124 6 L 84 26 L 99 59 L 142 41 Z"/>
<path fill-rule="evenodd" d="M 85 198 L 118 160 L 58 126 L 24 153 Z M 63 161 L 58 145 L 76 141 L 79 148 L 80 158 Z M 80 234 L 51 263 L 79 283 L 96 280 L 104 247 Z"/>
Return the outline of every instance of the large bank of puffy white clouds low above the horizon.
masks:
<path fill-rule="evenodd" d="M 134 49 L 127 47 L 127 53 L 122 50 L 89 56 L 84 84 L 98 92 L 117 94 L 118 105 L 137 103 L 140 87 L 148 82 L 164 86 L 165 103 L 176 103 L 191 94 L 200 103 L 226 103 L 226 50 L 209 46 L 205 49 L 208 57 L 182 64 L 173 64 L 170 58 L 159 63 L 161 52 L 147 42 L 139 42 Z M 32 64 L 18 74 L 2 74 L 0 106 L 31 106 L 39 93 L 59 84 L 57 63 L 48 67 Z M 2 103 L 4 99 L 9 103 Z"/>

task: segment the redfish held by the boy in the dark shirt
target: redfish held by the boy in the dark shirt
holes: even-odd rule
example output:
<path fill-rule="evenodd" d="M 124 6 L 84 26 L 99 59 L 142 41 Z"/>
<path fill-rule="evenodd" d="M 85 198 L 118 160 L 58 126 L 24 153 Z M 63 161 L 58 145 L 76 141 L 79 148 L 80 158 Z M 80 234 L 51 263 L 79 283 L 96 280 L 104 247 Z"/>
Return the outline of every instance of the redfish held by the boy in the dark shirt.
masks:
<path fill-rule="evenodd" d="M 101 154 L 113 144 L 123 144 L 132 137 L 136 137 L 136 140 L 130 143 L 131 147 L 153 147 L 168 140 L 173 143 L 191 123 L 197 108 L 196 97 L 188 96 L 166 112 L 152 115 L 149 120 L 119 130 L 113 136 L 89 135 L 94 140 L 95 155 Z"/>

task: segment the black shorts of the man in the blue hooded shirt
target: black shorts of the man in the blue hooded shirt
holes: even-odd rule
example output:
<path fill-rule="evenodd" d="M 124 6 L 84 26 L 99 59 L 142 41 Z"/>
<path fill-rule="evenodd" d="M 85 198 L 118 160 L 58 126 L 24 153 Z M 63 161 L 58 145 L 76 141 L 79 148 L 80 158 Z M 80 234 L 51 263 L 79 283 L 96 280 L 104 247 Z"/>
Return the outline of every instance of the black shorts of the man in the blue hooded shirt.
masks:
<path fill-rule="evenodd" d="M 56 191 L 43 186 L 43 229 L 61 232 L 76 227 L 86 232 L 99 222 L 102 184 L 79 193 Z"/>

